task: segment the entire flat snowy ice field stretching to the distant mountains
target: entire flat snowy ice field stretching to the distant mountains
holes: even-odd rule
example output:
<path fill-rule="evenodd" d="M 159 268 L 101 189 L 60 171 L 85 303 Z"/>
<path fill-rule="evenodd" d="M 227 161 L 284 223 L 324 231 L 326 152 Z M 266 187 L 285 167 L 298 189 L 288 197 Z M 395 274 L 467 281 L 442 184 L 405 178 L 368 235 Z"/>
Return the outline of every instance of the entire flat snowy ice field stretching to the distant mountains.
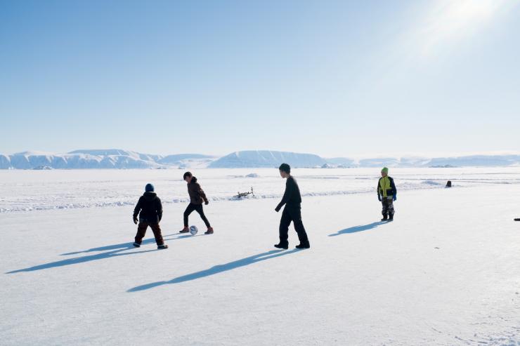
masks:
<path fill-rule="evenodd" d="M 0 345 L 520 345 L 520 168 L 391 169 L 388 224 L 378 171 L 294 170 L 303 251 L 276 169 L 195 171 L 195 237 L 183 171 L 0 171 Z M 147 182 L 167 250 L 131 246 Z"/>

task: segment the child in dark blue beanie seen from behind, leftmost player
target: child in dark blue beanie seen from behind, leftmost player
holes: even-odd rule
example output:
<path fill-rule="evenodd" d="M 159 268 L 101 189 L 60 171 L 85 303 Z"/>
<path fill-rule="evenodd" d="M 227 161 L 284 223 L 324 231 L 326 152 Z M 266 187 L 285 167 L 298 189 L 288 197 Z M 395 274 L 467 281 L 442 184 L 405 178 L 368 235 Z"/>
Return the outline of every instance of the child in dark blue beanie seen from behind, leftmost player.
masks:
<path fill-rule="evenodd" d="M 137 218 L 137 215 L 139 215 L 139 218 Z M 141 246 L 141 242 L 145 237 L 148 226 L 152 229 L 155 242 L 157 243 L 157 248 L 168 248 L 168 246 L 164 244 L 164 239 L 162 239 L 161 227 L 159 226 L 161 219 L 161 199 L 157 197 L 157 194 L 155 194 L 153 185 L 146 184 L 145 193 L 139 198 L 136 208 L 134 208 L 134 223 L 136 225 L 139 223 L 137 227 L 136 241 L 134 242 L 136 248 Z"/>

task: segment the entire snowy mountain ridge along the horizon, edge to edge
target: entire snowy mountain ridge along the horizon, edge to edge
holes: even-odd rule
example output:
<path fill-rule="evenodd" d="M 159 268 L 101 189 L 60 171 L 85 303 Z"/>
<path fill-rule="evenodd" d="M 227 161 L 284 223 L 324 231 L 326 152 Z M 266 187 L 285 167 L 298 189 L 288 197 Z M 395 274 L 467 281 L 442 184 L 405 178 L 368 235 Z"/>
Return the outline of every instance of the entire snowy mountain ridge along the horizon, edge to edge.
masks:
<path fill-rule="evenodd" d="M 224 157 L 204 154 L 156 155 L 123 149 L 80 149 L 66 154 L 20 152 L 0 154 L 0 169 L 91 168 L 271 168 L 283 162 L 300 168 L 334 167 L 468 167 L 520 166 L 520 154 L 467 155 L 460 157 L 386 157 L 325 159 L 315 154 L 245 150 Z"/>

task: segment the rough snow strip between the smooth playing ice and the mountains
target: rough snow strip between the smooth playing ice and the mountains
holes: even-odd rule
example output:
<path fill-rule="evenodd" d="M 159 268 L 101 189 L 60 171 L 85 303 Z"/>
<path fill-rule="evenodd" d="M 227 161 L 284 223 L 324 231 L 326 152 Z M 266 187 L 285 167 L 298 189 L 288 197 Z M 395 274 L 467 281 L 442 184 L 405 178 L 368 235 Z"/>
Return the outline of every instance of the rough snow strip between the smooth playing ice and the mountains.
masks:
<path fill-rule="evenodd" d="M 304 196 L 374 192 L 378 168 L 295 169 Z M 136 204 L 146 183 L 162 201 L 188 201 L 184 170 L 0 171 L 0 213 Z M 201 169 L 193 171 L 212 201 L 233 200 L 253 187 L 256 198 L 279 198 L 285 182 L 273 168 Z M 253 175 L 249 178 L 247 175 Z M 391 168 L 399 190 L 520 184 L 516 168 Z"/>

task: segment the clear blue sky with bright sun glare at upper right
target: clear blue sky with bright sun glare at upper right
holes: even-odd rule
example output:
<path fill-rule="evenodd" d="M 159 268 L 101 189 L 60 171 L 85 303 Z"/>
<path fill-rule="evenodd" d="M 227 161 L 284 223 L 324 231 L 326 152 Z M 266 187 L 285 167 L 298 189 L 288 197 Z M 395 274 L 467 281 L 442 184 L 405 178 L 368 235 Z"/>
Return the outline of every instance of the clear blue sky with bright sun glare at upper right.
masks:
<path fill-rule="evenodd" d="M 0 0 L 0 153 L 520 152 L 520 1 Z"/>

